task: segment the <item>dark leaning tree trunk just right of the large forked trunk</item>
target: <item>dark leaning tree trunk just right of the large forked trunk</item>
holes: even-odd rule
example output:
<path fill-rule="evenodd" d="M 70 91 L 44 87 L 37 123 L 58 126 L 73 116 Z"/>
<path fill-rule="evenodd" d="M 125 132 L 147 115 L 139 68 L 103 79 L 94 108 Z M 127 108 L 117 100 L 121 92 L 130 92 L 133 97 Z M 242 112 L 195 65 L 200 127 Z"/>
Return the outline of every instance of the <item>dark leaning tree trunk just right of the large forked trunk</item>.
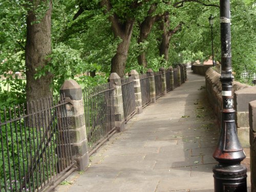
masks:
<path fill-rule="evenodd" d="M 152 13 L 154 13 L 155 11 L 156 11 L 156 4 L 152 4 L 150 9 L 147 11 L 147 16 L 145 17 L 143 22 L 140 24 L 140 36 L 138 39 L 138 44 L 143 42 L 147 38 L 148 34 L 150 34 L 150 31 L 153 27 L 153 24 L 155 23 L 155 20 L 156 20 L 156 16 L 152 16 Z M 139 65 L 141 65 L 145 68 L 147 67 L 145 52 L 142 52 L 138 56 L 138 63 L 139 63 Z"/>

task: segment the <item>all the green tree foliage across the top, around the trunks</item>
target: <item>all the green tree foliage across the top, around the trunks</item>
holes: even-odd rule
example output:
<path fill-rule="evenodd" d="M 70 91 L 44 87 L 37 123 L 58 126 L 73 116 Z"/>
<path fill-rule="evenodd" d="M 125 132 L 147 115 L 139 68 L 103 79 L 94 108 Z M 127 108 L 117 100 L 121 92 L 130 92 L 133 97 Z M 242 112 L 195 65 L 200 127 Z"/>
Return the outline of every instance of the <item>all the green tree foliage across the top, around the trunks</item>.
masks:
<path fill-rule="evenodd" d="M 210 14 L 215 16 L 213 27 L 215 60 L 221 60 L 220 25 L 218 24 L 219 8 L 208 7 L 195 2 L 186 2 L 180 8 L 173 7 L 173 2 L 151 1 L 121 1 L 112 0 L 112 10 L 103 13 L 105 8 L 100 7 L 100 0 L 56 0 L 53 1 L 52 11 L 52 54 L 51 62 L 43 69 L 37 69 L 35 78 L 40 78 L 47 72 L 54 74 L 54 89 L 57 91 L 62 82 L 69 78 L 88 71 L 103 72 L 107 76 L 111 69 L 111 59 L 116 54 L 120 37 L 113 34 L 109 16 L 114 13 L 119 16 L 120 23 L 134 19 L 131 44 L 126 62 L 125 72 L 132 69 L 145 73 L 146 69 L 138 65 L 137 57 L 146 53 L 148 68 L 158 71 L 160 67 L 176 65 L 176 63 L 190 62 L 191 60 L 206 60 L 211 55 L 211 30 L 208 23 Z M 203 1 L 208 4 L 207 1 Z M 157 5 L 152 14 L 161 15 L 168 11 L 170 14 L 170 30 L 183 22 L 182 29 L 170 39 L 168 63 L 159 56 L 159 45 L 162 31 L 159 22 L 155 22 L 147 39 L 138 45 L 139 24 L 147 16 L 152 4 Z M 25 46 L 26 46 L 26 16 L 27 12 L 34 10 L 37 22 L 40 21 L 47 10 L 49 1 L 33 6 L 28 1 L 1 1 L 3 9 L 0 12 L 0 74 L 7 77 L 13 89 L 9 92 L 1 90 L 1 106 L 8 103 L 18 103 L 25 99 L 26 81 L 13 78 L 8 72 L 26 72 Z M 214 0 L 211 4 L 218 5 Z M 79 8 L 84 11 L 73 20 Z M 236 80 L 251 82 L 256 71 L 255 51 L 255 2 L 252 0 L 235 0 L 231 2 L 231 39 L 232 39 L 232 66 Z M 242 74 L 248 72 L 248 78 Z M 97 79 L 96 77 L 95 79 Z M 100 77 L 101 78 L 101 77 Z M 84 77 L 89 85 L 100 83 L 101 80 L 92 80 Z M 105 78 L 104 78 L 105 79 Z M 103 80 L 102 82 L 105 82 Z M 86 87 L 85 86 L 85 87 Z M 18 94 L 22 93 L 22 94 Z M 19 97 L 15 97 L 15 95 Z M 22 95 L 22 96 L 21 96 Z"/>

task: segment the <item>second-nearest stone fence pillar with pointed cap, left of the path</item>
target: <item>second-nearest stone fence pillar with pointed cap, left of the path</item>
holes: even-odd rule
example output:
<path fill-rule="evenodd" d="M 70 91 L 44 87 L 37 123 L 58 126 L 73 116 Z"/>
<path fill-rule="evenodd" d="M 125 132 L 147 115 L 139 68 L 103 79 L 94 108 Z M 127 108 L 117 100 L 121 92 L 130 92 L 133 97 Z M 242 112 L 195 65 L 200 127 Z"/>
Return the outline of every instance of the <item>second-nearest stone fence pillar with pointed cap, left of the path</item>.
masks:
<path fill-rule="evenodd" d="M 115 105 L 115 126 L 122 132 L 124 131 L 124 113 L 121 78 L 117 73 L 110 74 L 110 82 L 114 83 L 114 105 Z"/>

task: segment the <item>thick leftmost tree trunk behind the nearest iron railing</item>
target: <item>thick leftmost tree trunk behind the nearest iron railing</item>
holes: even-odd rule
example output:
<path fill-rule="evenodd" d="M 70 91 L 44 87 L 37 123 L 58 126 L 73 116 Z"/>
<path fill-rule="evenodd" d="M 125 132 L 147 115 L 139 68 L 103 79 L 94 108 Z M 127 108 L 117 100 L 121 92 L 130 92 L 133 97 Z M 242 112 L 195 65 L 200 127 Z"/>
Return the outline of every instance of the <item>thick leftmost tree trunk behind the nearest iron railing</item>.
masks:
<path fill-rule="evenodd" d="M 26 93 L 27 101 L 33 101 L 52 94 L 50 84 L 53 75 L 47 73 L 45 76 L 35 79 L 36 69 L 42 69 L 46 66 L 51 54 L 51 12 L 52 1 L 31 0 L 34 6 L 28 11 L 27 16 L 27 43 L 26 43 Z M 47 4 L 49 7 L 45 16 L 37 22 L 35 9 L 39 4 Z"/>

